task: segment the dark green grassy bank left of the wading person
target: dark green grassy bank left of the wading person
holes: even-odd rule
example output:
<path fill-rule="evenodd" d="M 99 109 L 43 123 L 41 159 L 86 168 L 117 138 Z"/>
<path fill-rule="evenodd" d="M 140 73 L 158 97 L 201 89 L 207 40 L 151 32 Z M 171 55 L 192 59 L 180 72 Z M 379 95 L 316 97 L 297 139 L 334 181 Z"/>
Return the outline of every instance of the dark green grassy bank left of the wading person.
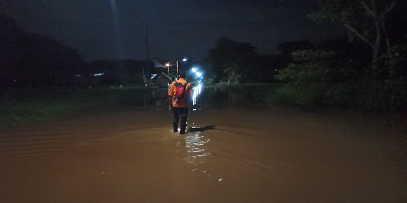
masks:
<path fill-rule="evenodd" d="M 0 89 L 0 132 L 117 105 L 143 105 L 150 87 L 2 88 Z"/>

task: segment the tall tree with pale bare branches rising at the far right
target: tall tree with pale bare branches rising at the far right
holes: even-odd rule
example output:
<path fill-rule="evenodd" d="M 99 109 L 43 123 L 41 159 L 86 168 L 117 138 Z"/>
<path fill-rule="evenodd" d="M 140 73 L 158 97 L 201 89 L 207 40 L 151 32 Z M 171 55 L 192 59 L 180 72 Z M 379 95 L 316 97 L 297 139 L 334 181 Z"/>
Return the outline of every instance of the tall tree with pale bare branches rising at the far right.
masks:
<path fill-rule="evenodd" d="M 405 94 L 406 75 L 398 75 L 399 63 L 404 60 L 407 32 L 407 2 L 405 0 L 314 0 L 320 11 L 310 16 L 317 22 L 343 24 L 349 39 L 360 39 L 371 48 L 372 91 L 383 100 L 389 110 L 394 108 L 398 94 Z M 395 26 L 397 25 L 397 26 Z M 402 29 L 399 29 L 400 27 Z M 400 38 L 404 38 L 400 39 Z M 400 48 L 400 45 L 402 47 Z M 404 48 L 403 48 L 404 47 Z M 387 73 L 385 73 L 387 72 Z M 387 75 L 387 76 L 384 76 Z"/>

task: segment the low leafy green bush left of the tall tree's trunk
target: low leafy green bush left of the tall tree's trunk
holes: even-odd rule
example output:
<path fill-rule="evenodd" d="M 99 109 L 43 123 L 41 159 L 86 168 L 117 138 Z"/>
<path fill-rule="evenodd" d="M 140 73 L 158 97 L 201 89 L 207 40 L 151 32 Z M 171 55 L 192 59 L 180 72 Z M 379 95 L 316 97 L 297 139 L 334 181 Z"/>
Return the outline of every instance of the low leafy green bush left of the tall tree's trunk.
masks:
<path fill-rule="evenodd" d="M 362 87 L 354 83 L 356 72 L 342 66 L 335 52 L 302 50 L 292 55 L 293 63 L 276 76 L 288 82 L 277 90 L 281 102 L 301 106 L 363 106 L 359 97 Z"/>

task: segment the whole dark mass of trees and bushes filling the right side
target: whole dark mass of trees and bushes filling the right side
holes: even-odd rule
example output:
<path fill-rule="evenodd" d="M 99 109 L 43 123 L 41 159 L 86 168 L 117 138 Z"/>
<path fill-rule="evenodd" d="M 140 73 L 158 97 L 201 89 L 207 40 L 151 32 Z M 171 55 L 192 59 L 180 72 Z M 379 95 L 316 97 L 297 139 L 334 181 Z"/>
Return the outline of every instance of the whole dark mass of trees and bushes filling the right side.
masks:
<path fill-rule="evenodd" d="M 316 22 L 342 24 L 349 33 L 348 42 L 336 47 L 332 46 L 335 43 L 321 43 L 293 52 L 293 63 L 276 76 L 288 84 L 277 92 L 301 105 L 406 109 L 407 3 L 316 2 L 320 11 L 310 17 Z"/>

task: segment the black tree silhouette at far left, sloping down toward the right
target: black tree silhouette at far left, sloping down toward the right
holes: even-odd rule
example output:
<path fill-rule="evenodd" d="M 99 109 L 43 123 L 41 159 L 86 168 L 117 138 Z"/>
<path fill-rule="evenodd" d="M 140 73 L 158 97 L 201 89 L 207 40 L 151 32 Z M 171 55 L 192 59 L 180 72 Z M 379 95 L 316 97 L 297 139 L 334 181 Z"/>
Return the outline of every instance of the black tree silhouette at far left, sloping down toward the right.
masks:
<path fill-rule="evenodd" d="M 81 73 L 83 57 L 73 48 L 38 34 L 21 32 L 1 15 L 0 86 L 68 85 Z"/>

